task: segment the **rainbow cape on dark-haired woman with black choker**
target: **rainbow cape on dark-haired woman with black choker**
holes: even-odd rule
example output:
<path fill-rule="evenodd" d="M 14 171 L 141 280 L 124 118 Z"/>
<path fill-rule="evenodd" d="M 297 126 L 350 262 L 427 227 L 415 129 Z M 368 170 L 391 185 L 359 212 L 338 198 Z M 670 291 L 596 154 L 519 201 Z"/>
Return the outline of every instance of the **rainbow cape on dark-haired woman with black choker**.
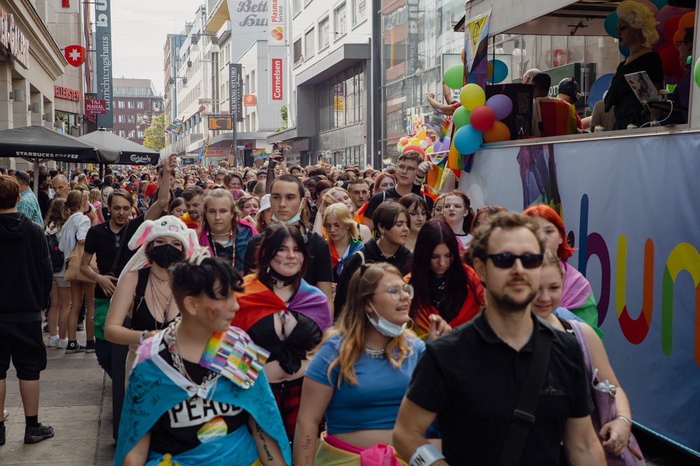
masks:
<path fill-rule="evenodd" d="M 322 332 L 332 324 L 328 297 L 315 286 L 306 283 L 303 278 L 288 306 L 255 275 L 245 276 L 243 286 L 245 291 L 236 293 L 240 309 L 235 313 L 231 325 L 239 327 L 244 332 L 247 332 L 261 318 L 284 309 L 296 311 L 310 318 Z"/>

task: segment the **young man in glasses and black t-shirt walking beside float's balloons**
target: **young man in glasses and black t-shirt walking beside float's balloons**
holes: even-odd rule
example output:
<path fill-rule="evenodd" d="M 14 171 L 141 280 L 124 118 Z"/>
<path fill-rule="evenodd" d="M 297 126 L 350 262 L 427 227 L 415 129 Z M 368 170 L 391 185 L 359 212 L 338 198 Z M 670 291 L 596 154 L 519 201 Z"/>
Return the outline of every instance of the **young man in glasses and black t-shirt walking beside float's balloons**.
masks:
<path fill-rule="evenodd" d="M 369 227 L 370 231 L 374 231 L 372 217 L 379 204 L 385 201 L 399 199 L 399 197 L 405 196 L 409 194 L 409 192 L 415 192 L 417 195 L 421 196 L 420 186 L 423 184 L 425 174 L 430 171 L 431 167 L 432 163 L 426 162 L 423 155 L 420 155 L 416 150 L 406 150 L 402 155 L 399 155 L 396 186 L 378 192 L 369 199 L 367 208 L 364 211 L 364 218 L 362 218 L 362 224 Z M 422 196 L 423 199 L 425 199 L 428 210 L 432 210 L 432 199 L 426 195 Z"/>

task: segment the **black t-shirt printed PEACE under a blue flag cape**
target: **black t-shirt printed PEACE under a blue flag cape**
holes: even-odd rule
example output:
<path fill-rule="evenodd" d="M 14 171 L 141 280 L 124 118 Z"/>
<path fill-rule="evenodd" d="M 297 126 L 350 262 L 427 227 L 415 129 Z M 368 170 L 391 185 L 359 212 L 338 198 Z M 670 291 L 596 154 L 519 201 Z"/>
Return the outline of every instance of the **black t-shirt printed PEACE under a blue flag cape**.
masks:
<path fill-rule="evenodd" d="M 167 348 L 163 348 L 159 354 L 172 366 L 172 356 Z M 208 369 L 195 362 L 183 362 L 192 380 L 198 384 L 202 383 L 209 372 Z M 230 434 L 247 422 L 248 413 L 243 409 L 232 404 L 208 402 L 195 395 L 175 405 L 158 418 L 151 428 L 150 448 L 161 455 L 179 455 L 217 437 Z"/>

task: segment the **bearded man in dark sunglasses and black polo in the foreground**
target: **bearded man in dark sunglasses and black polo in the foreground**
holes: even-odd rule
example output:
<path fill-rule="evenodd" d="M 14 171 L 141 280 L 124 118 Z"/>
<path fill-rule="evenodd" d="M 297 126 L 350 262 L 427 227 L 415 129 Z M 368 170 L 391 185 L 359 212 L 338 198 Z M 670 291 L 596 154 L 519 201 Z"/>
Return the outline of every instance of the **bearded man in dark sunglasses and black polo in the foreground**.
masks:
<path fill-rule="evenodd" d="M 544 247 L 537 223 L 520 214 L 497 213 L 476 230 L 469 253 L 487 304 L 418 360 L 394 427 L 393 445 L 409 465 L 558 465 L 562 444 L 571 465 L 605 465 L 577 340 L 530 311 Z M 425 440 L 436 415 L 442 453 Z"/>

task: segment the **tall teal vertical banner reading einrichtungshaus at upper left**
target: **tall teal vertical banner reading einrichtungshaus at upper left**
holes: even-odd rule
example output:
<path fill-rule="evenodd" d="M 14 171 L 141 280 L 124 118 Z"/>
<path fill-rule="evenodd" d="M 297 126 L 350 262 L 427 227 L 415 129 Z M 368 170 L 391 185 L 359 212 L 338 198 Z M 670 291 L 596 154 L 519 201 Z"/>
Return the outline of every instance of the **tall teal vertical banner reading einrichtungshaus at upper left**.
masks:
<path fill-rule="evenodd" d="M 97 115 L 97 126 L 114 127 L 114 100 L 112 92 L 112 26 L 111 0 L 95 1 L 95 87 L 97 99 L 104 100 L 106 111 Z"/>

